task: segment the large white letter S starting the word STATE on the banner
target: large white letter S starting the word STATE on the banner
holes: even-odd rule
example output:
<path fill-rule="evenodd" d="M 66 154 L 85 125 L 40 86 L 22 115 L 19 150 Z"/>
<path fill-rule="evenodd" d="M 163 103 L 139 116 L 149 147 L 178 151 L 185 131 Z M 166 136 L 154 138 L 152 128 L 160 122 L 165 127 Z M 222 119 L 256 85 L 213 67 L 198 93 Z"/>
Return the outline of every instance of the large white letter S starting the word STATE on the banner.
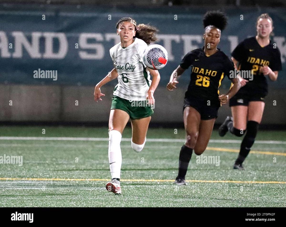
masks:
<path fill-rule="evenodd" d="M 96 50 L 95 54 L 89 54 L 87 51 L 79 51 L 82 59 L 102 59 L 104 57 L 104 47 L 99 43 L 88 43 L 88 39 L 93 38 L 97 41 L 103 41 L 103 35 L 100 33 L 81 33 L 79 38 L 80 48 Z"/>

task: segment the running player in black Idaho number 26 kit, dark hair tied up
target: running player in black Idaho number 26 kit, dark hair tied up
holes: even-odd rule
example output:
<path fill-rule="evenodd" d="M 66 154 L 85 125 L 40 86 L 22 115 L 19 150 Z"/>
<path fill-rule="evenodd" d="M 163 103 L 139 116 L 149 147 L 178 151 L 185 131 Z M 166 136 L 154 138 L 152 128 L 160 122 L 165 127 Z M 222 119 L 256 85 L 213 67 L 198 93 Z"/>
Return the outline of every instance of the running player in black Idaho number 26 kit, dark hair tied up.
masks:
<path fill-rule="evenodd" d="M 192 152 L 201 155 L 210 139 L 212 128 L 217 118 L 221 104 L 226 104 L 240 88 L 238 78 L 233 78 L 233 87 L 226 95 L 219 95 L 219 87 L 225 76 L 229 78 L 230 71 L 234 71 L 233 62 L 220 49 L 221 31 L 227 24 L 225 14 L 210 11 L 204 15 L 204 47 L 188 52 L 178 68 L 171 75 L 167 85 L 173 91 L 178 84 L 178 77 L 192 66 L 190 84 L 184 99 L 184 126 L 186 142 L 181 148 L 179 156 L 179 173 L 175 183 L 186 185 L 185 175 Z"/>

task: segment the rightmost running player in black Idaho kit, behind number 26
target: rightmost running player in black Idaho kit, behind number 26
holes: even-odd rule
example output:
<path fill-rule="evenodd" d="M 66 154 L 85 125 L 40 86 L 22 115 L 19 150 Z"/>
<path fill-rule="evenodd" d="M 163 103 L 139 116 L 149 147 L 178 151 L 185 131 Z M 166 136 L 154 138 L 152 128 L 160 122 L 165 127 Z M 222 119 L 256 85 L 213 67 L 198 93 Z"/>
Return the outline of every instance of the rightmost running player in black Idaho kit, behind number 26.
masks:
<path fill-rule="evenodd" d="M 242 163 L 255 141 L 262 119 L 264 98 L 268 93 L 266 76 L 275 81 L 278 71 L 282 70 L 280 51 L 269 38 L 273 21 L 267 13 L 257 18 L 256 29 L 255 37 L 246 38 L 232 52 L 235 67 L 241 71 L 251 71 L 253 78 L 240 78 L 243 87 L 229 101 L 233 117 L 227 117 L 219 128 L 220 136 L 224 136 L 227 131 L 236 136 L 245 134 L 233 166 L 240 170 L 243 170 Z"/>

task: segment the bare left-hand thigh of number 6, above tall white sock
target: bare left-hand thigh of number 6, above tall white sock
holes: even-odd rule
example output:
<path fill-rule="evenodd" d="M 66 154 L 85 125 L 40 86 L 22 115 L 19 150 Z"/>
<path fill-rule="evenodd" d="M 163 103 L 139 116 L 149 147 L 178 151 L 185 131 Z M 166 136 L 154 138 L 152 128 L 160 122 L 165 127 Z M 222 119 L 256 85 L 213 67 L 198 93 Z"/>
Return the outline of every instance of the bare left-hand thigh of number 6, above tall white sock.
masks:
<path fill-rule="evenodd" d="M 125 111 L 119 109 L 110 110 L 108 123 L 109 131 L 117 130 L 122 134 L 128 120 L 129 115 Z"/>

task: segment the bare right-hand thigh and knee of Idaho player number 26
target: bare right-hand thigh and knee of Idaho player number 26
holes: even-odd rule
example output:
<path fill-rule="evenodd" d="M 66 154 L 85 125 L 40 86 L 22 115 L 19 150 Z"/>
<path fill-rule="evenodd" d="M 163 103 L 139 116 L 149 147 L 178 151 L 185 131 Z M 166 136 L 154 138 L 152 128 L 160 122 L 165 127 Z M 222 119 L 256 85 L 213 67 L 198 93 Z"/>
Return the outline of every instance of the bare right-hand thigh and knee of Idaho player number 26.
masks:
<path fill-rule="evenodd" d="M 208 145 L 208 141 L 210 140 L 210 136 L 212 135 L 212 129 L 215 124 L 215 118 L 210 120 L 201 120 L 200 127 L 198 130 L 198 139 L 196 141 L 196 145 L 194 147 L 194 152 L 197 155 L 200 155 L 206 149 Z"/>

